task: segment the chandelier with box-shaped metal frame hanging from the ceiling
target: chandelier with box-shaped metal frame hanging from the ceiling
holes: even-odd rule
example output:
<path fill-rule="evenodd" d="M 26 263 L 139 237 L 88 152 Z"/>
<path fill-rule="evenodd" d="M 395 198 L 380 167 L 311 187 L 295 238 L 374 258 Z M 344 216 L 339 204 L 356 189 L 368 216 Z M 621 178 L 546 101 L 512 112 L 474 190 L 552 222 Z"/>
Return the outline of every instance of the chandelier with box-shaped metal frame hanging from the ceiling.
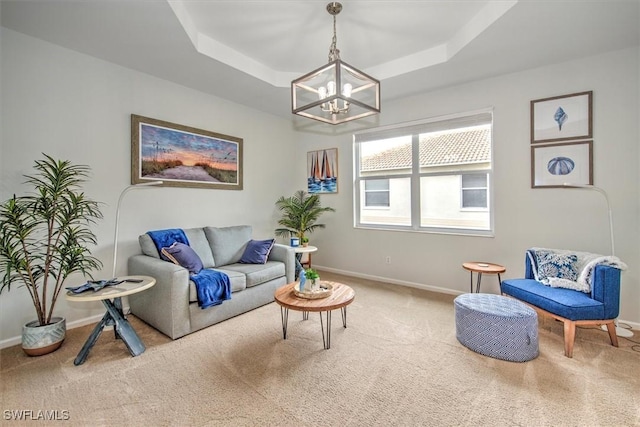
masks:
<path fill-rule="evenodd" d="M 337 125 L 380 112 L 380 82 L 340 59 L 337 48 L 338 2 L 327 5 L 333 16 L 329 63 L 291 82 L 291 112 Z"/>

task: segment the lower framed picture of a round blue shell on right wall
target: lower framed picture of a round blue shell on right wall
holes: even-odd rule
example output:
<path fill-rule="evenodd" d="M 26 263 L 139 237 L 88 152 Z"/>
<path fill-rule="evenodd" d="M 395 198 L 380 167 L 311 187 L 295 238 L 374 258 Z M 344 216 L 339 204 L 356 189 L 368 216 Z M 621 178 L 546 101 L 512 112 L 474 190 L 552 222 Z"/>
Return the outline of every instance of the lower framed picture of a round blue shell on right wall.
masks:
<path fill-rule="evenodd" d="M 593 141 L 531 146 L 531 188 L 593 185 Z"/>

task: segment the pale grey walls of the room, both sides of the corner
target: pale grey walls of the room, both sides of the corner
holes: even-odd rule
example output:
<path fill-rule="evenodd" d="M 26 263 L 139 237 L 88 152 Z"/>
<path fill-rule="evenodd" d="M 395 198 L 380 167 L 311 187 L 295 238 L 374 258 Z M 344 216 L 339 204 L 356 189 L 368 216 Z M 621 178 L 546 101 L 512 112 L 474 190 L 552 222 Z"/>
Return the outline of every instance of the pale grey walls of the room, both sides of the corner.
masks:
<path fill-rule="evenodd" d="M 638 50 L 629 49 L 551 67 L 476 81 L 386 102 L 380 125 L 494 108 L 495 237 L 355 229 L 353 151 L 349 132 L 291 130 L 291 123 L 145 74 L 2 29 L 0 199 L 21 192 L 22 175 L 46 152 L 92 167 L 87 193 L 105 203 L 94 251 L 111 274 L 115 205 L 130 176 L 131 113 L 244 139 L 243 191 L 154 188 L 130 192 L 121 212 L 118 274 L 138 252 L 136 236 L 164 227 L 248 223 L 257 237 L 272 235 L 281 195 L 305 188 L 306 152 L 338 147 L 339 193 L 322 195 L 337 209 L 311 235 L 314 265 L 410 286 L 465 292 L 461 263 L 487 260 L 523 273 L 530 246 L 608 253 L 606 205 L 584 190 L 531 189 L 529 101 L 594 91 L 595 184 L 611 198 L 616 255 L 623 274 L 621 319 L 640 327 L 639 203 L 640 99 Z M 344 128 L 343 128 L 344 129 Z M 297 165 L 292 174 L 291 165 Z M 391 257 L 391 264 L 385 258 Z M 81 279 L 75 282 L 79 284 Z M 486 276 L 483 291 L 498 292 Z M 426 308 L 425 308 L 426 309 Z M 95 319 L 100 305 L 67 304 L 57 311 L 71 326 Z M 19 342 L 35 313 L 24 290 L 0 296 L 0 347 Z"/>

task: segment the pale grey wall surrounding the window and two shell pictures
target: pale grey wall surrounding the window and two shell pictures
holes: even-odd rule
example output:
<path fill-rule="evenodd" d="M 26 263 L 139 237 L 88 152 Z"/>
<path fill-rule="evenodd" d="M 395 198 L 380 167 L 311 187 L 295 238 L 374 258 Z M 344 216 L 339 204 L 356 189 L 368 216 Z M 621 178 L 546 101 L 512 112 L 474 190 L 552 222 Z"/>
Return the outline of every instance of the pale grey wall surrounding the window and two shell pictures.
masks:
<path fill-rule="evenodd" d="M 620 319 L 640 326 L 638 57 L 637 48 L 626 49 L 384 103 L 380 125 L 494 108 L 495 237 L 355 229 L 352 138 L 344 134 L 328 144 L 339 148 L 340 192 L 322 200 L 338 213 L 323 218 L 326 230 L 312 237 L 320 248 L 314 264 L 464 292 L 469 289 L 464 261 L 503 264 L 504 277 L 510 278 L 522 276 L 524 252 L 531 246 L 610 253 L 606 203 L 599 193 L 530 188 L 530 101 L 592 90 L 594 184 L 609 194 L 616 255 L 629 265 L 622 276 Z M 321 137 L 305 143 L 309 150 L 327 146 Z M 391 264 L 385 263 L 387 256 Z M 485 276 L 482 290 L 497 293 L 496 278 Z"/>

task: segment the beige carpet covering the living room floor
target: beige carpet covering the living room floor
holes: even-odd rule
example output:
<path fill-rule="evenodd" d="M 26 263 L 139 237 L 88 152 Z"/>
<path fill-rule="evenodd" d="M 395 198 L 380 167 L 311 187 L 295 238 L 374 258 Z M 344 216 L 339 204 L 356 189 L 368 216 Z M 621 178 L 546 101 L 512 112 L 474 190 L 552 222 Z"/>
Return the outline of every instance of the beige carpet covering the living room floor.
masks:
<path fill-rule="evenodd" d="M 458 343 L 453 296 L 323 278 L 356 290 L 347 329 L 334 313 L 330 350 L 314 313 L 291 312 L 283 340 L 275 303 L 177 341 L 130 316 L 147 351 L 132 358 L 105 331 L 82 366 L 73 359 L 92 327 L 72 329 L 51 355 L 0 352 L 0 424 L 640 425 L 640 353 L 629 340 L 614 348 L 605 332 L 579 329 L 569 359 L 562 325 L 541 319 L 537 359 L 496 360 Z M 17 410 L 69 420 L 8 420 Z"/>

